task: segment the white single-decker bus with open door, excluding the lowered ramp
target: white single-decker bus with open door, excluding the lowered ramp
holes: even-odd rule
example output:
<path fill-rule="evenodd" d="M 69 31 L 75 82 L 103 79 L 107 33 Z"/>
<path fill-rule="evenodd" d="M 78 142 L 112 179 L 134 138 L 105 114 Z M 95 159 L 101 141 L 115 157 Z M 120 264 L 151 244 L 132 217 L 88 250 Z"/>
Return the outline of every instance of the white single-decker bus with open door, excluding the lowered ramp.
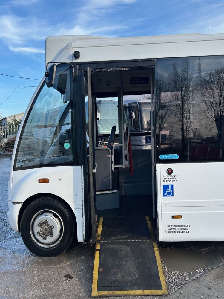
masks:
<path fill-rule="evenodd" d="M 142 134 L 139 109 L 124 109 L 125 98 L 141 96 L 150 99 L 149 150 L 133 150 L 131 127 Z M 97 109 L 100 101 L 103 111 L 104 99 L 117 101 L 118 121 L 108 116 L 108 132 L 100 132 Z M 49 150 L 26 153 L 35 115 L 50 110 L 58 115 Z M 71 125 L 62 132 L 68 114 Z M 45 77 L 13 151 L 11 227 L 30 251 L 48 257 L 67 250 L 73 238 L 98 242 L 106 223 L 122 234 L 124 223 L 141 217 L 148 217 L 155 241 L 223 241 L 223 115 L 224 34 L 48 37 Z M 143 222 L 133 223 L 132 232 L 143 231 Z"/>

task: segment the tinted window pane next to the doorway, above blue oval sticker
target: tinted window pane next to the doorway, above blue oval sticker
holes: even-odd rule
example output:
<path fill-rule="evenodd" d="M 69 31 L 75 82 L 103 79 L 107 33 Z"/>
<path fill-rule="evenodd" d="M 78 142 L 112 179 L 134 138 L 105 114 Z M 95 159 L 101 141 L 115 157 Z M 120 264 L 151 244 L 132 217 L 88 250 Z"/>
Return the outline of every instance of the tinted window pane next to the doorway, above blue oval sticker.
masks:
<path fill-rule="evenodd" d="M 188 77 L 187 58 L 156 60 L 156 141 L 159 155 L 178 155 L 178 161 L 188 160 Z"/>

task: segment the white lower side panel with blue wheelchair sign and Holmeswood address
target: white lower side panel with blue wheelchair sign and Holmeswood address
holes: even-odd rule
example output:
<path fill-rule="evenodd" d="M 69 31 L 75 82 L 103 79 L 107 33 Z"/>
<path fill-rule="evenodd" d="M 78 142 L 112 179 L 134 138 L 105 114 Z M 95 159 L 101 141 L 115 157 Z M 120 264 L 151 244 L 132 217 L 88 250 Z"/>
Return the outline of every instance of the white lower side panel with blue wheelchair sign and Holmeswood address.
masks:
<path fill-rule="evenodd" d="M 224 240 L 223 170 L 223 162 L 157 164 L 159 241 Z"/>

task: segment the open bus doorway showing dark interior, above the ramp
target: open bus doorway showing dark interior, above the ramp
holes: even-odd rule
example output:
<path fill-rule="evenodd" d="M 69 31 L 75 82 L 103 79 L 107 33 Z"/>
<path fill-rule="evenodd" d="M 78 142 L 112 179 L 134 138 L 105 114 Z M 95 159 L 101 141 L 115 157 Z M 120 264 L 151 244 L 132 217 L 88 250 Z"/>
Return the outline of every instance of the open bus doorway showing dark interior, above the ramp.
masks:
<path fill-rule="evenodd" d="M 153 218 L 155 214 L 151 80 L 152 66 L 91 72 L 91 129 L 96 165 L 96 210 L 99 217 Z M 86 111 L 88 109 L 86 99 Z"/>

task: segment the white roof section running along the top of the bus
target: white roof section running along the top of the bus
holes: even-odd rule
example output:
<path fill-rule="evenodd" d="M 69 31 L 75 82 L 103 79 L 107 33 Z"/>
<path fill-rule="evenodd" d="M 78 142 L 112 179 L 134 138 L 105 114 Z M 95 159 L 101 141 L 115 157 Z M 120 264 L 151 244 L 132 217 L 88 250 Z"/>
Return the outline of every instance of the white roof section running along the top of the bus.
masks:
<path fill-rule="evenodd" d="M 146 60 L 151 58 L 224 54 L 224 34 L 179 34 L 107 38 L 87 35 L 50 36 L 46 63 Z M 73 57 L 74 51 L 80 57 Z"/>

